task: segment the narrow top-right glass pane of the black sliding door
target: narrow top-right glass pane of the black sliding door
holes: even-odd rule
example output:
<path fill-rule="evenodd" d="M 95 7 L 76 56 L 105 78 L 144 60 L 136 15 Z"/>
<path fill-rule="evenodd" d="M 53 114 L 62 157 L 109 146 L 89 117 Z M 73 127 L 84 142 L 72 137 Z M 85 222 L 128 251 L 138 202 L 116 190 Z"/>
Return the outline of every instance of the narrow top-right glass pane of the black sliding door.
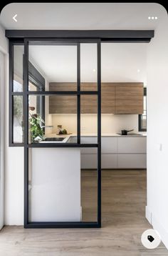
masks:
<path fill-rule="evenodd" d="M 98 90 L 97 44 L 80 44 L 80 90 Z"/>

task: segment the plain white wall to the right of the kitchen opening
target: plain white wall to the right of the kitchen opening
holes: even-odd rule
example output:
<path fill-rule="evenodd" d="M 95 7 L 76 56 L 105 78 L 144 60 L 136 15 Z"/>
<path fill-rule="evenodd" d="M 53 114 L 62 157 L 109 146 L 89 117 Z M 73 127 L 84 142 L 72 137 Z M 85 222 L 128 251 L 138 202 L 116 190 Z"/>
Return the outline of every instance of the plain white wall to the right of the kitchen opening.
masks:
<path fill-rule="evenodd" d="M 146 215 L 168 248 L 168 19 L 147 49 L 147 209 Z"/>

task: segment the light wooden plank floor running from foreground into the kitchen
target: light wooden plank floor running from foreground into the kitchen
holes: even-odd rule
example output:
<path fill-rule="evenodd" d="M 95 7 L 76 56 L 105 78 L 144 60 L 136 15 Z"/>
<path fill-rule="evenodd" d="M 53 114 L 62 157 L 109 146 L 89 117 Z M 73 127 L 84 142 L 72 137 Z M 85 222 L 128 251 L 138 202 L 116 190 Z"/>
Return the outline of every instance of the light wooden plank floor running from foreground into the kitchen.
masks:
<path fill-rule="evenodd" d="M 112 170 L 103 171 L 102 176 L 101 229 L 4 227 L 0 232 L 0 255 L 168 255 L 163 244 L 155 250 L 147 250 L 140 242 L 142 232 L 151 227 L 145 219 L 146 172 Z M 83 172 L 83 220 L 96 217 L 95 189 L 95 172 Z"/>

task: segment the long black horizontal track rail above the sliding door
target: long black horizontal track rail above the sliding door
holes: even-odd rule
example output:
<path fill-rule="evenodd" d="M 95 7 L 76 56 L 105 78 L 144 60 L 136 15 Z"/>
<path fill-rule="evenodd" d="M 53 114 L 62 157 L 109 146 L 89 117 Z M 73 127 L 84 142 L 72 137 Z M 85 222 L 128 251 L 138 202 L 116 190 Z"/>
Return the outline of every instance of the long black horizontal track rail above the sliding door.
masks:
<path fill-rule="evenodd" d="M 154 30 L 6 30 L 9 39 L 56 38 L 56 39 L 101 39 L 101 41 L 149 42 Z"/>

